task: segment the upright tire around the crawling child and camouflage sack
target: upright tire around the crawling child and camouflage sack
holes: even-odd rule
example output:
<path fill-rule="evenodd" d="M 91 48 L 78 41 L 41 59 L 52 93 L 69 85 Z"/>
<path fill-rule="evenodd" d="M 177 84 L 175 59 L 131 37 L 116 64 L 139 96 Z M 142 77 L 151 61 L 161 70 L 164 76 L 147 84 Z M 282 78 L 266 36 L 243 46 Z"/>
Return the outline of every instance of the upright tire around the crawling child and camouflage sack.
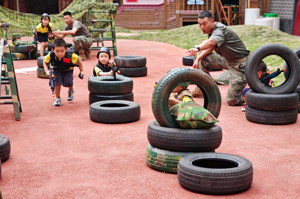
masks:
<path fill-rule="evenodd" d="M 160 126 L 180 128 L 169 111 L 168 99 L 172 90 L 184 82 L 196 84 L 202 90 L 203 107 L 218 118 L 221 110 L 221 95 L 214 79 L 197 69 L 176 68 L 159 80 L 152 94 L 152 111 Z"/>

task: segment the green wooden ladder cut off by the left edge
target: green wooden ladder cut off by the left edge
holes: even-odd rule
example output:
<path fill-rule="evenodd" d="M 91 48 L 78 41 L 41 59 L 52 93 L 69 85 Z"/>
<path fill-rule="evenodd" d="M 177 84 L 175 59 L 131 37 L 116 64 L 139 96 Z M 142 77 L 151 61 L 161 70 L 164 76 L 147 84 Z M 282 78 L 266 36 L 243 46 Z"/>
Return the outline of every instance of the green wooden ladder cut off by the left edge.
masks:
<path fill-rule="evenodd" d="M 5 58 L 5 59 L 3 59 Z M 1 96 L 1 85 L 0 85 L 0 104 L 13 104 L 15 111 L 16 120 L 21 119 L 20 113 L 22 112 L 17 79 L 15 75 L 15 68 L 13 64 L 13 57 L 11 53 L 11 48 L 9 45 L 4 45 L 4 39 L 2 38 L 0 41 L 0 63 L 1 68 L 2 64 L 5 65 L 5 69 L 1 69 L 1 85 L 10 85 L 11 95 L 9 95 L 8 87 L 6 87 L 6 95 Z M 4 76 L 4 77 L 3 77 Z M 2 100 L 2 99 L 12 99 L 12 100 Z"/>

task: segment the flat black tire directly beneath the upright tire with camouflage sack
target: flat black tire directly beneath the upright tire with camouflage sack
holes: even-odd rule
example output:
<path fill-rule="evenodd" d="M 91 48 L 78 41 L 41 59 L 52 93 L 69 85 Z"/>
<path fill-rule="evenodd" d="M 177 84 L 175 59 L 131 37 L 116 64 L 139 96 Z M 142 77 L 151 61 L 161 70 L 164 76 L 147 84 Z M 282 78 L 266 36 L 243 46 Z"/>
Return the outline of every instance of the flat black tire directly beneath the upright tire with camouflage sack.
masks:
<path fill-rule="evenodd" d="M 147 138 L 153 147 L 163 150 L 205 152 L 221 145 L 222 129 L 216 124 L 209 129 L 174 129 L 153 121 L 148 125 Z"/>

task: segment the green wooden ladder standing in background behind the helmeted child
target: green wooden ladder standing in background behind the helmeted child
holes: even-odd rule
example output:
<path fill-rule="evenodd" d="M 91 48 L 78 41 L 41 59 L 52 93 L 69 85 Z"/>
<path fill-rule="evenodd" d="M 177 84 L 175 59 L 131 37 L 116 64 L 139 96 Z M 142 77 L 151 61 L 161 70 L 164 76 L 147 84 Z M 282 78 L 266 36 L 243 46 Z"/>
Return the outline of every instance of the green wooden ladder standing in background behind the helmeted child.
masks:
<path fill-rule="evenodd" d="M 95 12 L 109 13 L 110 19 L 92 19 L 92 13 L 95 13 Z M 92 22 L 110 22 L 110 28 L 91 29 Z M 108 46 L 107 48 L 110 50 L 114 50 L 114 55 L 118 56 L 116 30 L 115 30 L 115 16 L 111 11 L 89 9 L 87 27 L 88 27 L 89 32 L 92 32 L 92 31 L 101 32 L 101 37 L 92 37 L 93 43 L 97 42 L 97 46 L 91 46 L 90 49 L 100 49 L 101 47 L 107 47 L 107 46 L 104 46 L 104 41 L 112 41 L 112 46 Z M 104 37 L 103 36 L 104 31 L 106 31 L 106 32 L 110 31 L 112 33 L 112 37 Z M 99 43 L 101 43 L 101 46 L 99 46 Z"/>

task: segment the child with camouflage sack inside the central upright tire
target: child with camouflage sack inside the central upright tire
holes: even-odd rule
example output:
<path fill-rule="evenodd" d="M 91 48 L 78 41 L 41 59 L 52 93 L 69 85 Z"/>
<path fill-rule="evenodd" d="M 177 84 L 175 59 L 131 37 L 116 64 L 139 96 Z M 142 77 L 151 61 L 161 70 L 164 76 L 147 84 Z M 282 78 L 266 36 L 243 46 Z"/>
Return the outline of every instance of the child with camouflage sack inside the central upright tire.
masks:
<path fill-rule="evenodd" d="M 208 129 L 219 120 L 195 103 L 191 91 L 187 89 L 189 84 L 179 84 L 172 91 L 168 103 L 170 113 L 183 129 Z"/>

